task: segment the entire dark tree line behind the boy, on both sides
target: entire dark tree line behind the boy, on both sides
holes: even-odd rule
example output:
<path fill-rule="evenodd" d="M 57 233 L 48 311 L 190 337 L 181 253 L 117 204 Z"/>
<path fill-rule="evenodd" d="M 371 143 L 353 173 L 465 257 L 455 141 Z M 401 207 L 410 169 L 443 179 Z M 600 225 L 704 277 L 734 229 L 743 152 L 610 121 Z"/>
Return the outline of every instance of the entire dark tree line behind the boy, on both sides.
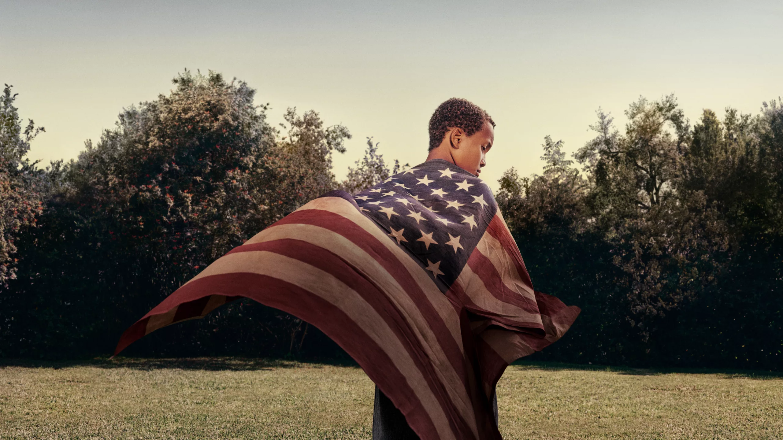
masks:
<path fill-rule="evenodd" d="M 350 138 L 315 111 L 266 120 L 254 90 L 186 71 L 130 106 L 78 159 L 26 158 L 41 132 L 0 102 L 0 355 L 106 355 L 171 291 L 267 225 L 331 189 L 399 171 L 367 139 L 337 182 Z M 547 137 L 542 175 L 514 168 L 497 200 L 536 288 L 583 313 L 541 359 L 638 366 L 781 368 L 783 106 L 705 110 L 640 99 L 619 132 L 568 160 Z M 391 166 L 390 166 L 391 165 Z M 406 165 L 402 165 L 403 167 Z M 253 301 L 159 330 L 128 355 L 340 355 L 299 319 Z"/>

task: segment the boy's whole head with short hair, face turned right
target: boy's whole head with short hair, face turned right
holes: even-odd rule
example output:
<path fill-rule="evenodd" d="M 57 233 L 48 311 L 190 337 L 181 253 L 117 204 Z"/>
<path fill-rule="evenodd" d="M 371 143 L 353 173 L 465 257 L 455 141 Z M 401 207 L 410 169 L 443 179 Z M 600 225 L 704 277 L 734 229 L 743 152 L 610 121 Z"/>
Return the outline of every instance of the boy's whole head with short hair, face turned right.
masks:
<path fill-rule="evenodd" d="M 485 154 L 495 142 L 495 121 L 467 99 L 452 98 L 435 109 L 430 118 L 430 155 L 481 173 Z"/>

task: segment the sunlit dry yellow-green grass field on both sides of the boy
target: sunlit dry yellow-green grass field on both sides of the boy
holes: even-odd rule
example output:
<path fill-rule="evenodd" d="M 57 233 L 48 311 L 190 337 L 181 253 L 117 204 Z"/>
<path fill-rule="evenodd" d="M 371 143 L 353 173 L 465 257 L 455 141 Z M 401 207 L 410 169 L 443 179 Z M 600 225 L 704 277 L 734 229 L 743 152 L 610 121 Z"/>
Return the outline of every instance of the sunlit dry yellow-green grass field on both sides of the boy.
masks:
<path fill-rule="evenodd" d="M 259 359 L 0 361 L 0 438 L 367 438 L 358 367 Z M 783 377 L 525 362 L 503 437 L 783 438 Z"/>

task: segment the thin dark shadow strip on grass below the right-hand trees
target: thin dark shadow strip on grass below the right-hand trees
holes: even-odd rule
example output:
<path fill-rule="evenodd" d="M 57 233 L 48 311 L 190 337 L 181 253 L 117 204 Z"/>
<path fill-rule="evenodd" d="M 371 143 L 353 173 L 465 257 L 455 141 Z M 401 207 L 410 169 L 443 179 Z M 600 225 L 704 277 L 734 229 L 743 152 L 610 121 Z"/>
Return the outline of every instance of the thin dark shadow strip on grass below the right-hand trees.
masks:
<path fill-rule="evenodd" d="M 764 370 L 731 370 L 731 369 L 712 369 L 712 368 L 631 368 L 627 366 L 605 366 L 605 365 L 585 365 L 578 363 L 565 362 L 544 362 L 544 361 L 526 361 L 518 360 L 508 367 L 518 370 L 541 370 L 541 371 L 608 371 L 631 376 L 659 376 L 662 374 L 716 374 L 726 379 L 748 378 L 758 380 L 780 380 L 783 379 L 783 372 L 764 371 Z"/>

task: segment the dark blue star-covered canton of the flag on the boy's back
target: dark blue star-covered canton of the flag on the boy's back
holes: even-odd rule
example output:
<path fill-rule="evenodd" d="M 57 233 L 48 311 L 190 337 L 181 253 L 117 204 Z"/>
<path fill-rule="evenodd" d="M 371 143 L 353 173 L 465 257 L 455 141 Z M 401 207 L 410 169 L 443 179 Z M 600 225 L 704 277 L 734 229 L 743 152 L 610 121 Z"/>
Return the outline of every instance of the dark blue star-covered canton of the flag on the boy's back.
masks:
<path fill-rule="evenodd" d="M 484 235 L 497 204 L 482 179 L 446 160 L 428 160 L 354 196 L 445 292 Z"/>

